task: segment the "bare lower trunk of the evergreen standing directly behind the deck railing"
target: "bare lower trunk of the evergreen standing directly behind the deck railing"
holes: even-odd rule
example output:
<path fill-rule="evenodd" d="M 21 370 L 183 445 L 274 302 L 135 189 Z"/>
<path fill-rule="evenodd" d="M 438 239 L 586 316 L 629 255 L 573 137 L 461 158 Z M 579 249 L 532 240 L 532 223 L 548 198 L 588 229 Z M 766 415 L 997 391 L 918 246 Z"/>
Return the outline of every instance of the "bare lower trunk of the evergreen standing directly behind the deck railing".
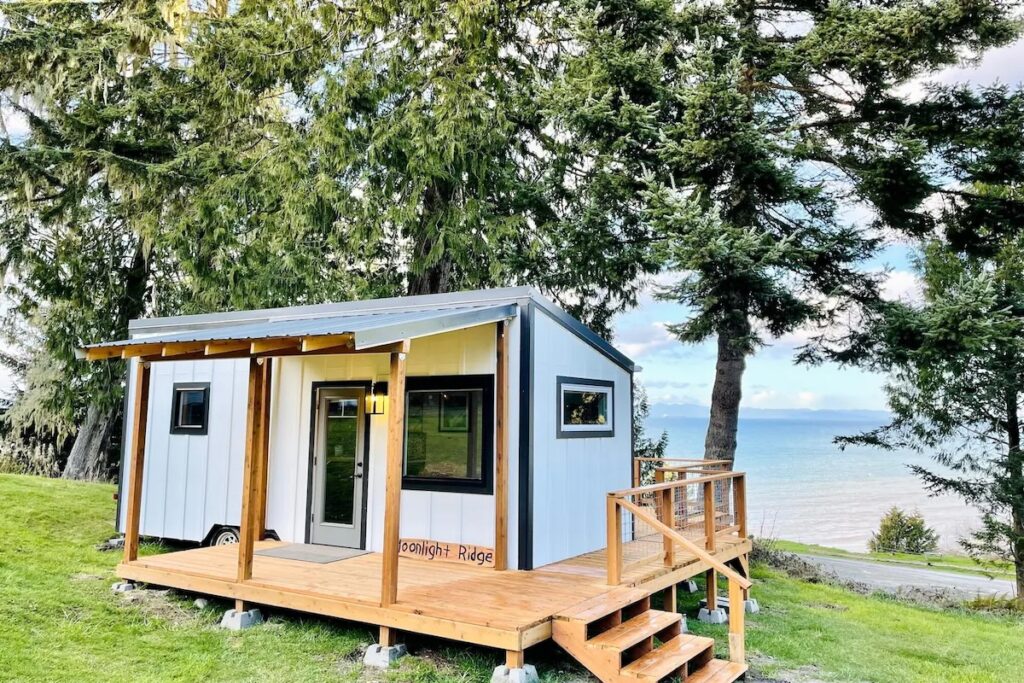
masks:
<path fill-rule="evenodd" d="M 711 419 L 705 437 L 705 460 L 727 460 L 728 469 L 736 458 L 736 430 L 739 426 L 739 400 L 742 397 L 743 370 L 746 368 L 744 337 L 746 330 L 721 330 L 718 334 L 718 359 L 715 386 L 711 394 Z"/>

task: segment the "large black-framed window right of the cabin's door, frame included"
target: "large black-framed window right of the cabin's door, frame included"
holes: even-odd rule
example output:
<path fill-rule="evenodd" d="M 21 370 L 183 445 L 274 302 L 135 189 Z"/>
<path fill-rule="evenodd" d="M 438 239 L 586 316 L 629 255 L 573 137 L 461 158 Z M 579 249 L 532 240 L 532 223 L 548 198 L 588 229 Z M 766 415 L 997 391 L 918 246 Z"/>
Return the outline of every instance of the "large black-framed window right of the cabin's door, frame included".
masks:
<path fill-rule="evenodd" d="M 489 494 L 494 378 L 410 378 L 402 485 Z"/>

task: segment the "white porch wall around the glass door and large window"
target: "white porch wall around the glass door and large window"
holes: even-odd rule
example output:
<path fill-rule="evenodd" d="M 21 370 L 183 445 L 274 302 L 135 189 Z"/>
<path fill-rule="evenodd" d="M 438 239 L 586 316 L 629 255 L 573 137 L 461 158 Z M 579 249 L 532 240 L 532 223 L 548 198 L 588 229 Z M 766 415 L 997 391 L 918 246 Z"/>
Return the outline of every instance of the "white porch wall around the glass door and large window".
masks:
<path fill-rule="evenodd" d="M 510 437 L 510 558 L 517 556 L 518 533 L 518 325 L 510 326 L 509 430 Z M 414 339 L 407 358 L 407 375 L 494 375 L 496 335 L 494 325 Z M 306 539 L 309 478 L 310 411 L 314 382 L 362 382 L 388 379 L 388 357 L 378 354 L 293 356 L 274 361 L 271 394 L 270 462 L 267 494 L 267 527 L 283 541 Z M 371 417 L 368 462 L 367 547 L 383 547 L 384 476 L 387 444 L 387 410 Z M 431 539 L 493 547 L 495 498 L 473 494 L 402 490 L 402 538 Z"/>

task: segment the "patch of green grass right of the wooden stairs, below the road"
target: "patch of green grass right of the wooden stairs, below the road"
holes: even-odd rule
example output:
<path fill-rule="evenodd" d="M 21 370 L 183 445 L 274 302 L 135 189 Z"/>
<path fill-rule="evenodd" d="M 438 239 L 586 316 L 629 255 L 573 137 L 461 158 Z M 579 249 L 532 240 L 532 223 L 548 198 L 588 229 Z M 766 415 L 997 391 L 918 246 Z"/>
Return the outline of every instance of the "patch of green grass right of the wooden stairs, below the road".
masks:
<path fill-rule="evenodd" d="M 795 581 L 756 567 L 751 664 L 783 680 L 996 683 L 1024 671 L 1024 618 L 939 609 Z M 681 596 L 691 610 L 699 594 Z M 690 621 L 724 642 L 726 627 Z M 721 651 L 725 653 L 724 649 Z"/>

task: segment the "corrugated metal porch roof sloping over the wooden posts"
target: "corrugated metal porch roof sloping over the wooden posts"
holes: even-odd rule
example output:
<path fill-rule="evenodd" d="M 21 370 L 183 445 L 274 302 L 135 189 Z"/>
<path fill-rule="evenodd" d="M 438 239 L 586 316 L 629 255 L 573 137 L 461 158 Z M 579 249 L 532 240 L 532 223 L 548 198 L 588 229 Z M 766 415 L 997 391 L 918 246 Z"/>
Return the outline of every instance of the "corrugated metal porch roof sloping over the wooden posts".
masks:
<path fill-rule="evenodd" d="M 184 332 L 146 335 L 134 339 L 90 344 L 87 349 L 118 348 L 138 344 L 219 342 L 241 339 L 289 339 L 327 335 L 352 335 L 356 349 L 379 346 L 402 339 L 426 337 L 452 330 L 496 323 L 514 317 L 511 304 L 468 306 L 416 311 L 388 311 L 370 314 L 322 315 L 261 323 L 222 324 Z"/>

